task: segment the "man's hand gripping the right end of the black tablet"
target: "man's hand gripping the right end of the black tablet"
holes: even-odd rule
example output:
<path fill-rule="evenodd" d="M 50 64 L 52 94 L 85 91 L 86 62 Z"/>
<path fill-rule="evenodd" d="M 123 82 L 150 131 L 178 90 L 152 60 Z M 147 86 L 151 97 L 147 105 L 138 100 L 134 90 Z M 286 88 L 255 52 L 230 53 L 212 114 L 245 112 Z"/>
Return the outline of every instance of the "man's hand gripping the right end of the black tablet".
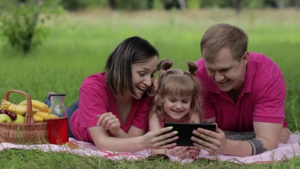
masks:
<path fill-rule="evenodd" d="M 193 134 L 197 136 L 191 137 L 194 146 L 202 148 L 210 154 L 220 153 L 226 147 L 227 139 L 225 138 L 225 133 L 218 127 L 216 128 L 216 132 L 197 128 L 197 130 L 193 130 Z"/>

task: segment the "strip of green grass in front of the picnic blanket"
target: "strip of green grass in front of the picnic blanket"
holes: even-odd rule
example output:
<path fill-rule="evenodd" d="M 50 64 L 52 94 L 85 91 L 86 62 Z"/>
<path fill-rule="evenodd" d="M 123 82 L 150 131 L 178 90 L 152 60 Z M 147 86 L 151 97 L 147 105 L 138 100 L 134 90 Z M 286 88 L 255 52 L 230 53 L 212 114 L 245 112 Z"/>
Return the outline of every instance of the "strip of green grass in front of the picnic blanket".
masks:
<path fill-rule="evenodd" d="M 237 165 L 230 162 L 197 159 L 190 164 L 163 158 L 113 161 L 96 156 L 78 156 L 64 152 L 6 149 L 0 151 L 1 169 L 298 169 L 300 159 L 271 164 Z"/>

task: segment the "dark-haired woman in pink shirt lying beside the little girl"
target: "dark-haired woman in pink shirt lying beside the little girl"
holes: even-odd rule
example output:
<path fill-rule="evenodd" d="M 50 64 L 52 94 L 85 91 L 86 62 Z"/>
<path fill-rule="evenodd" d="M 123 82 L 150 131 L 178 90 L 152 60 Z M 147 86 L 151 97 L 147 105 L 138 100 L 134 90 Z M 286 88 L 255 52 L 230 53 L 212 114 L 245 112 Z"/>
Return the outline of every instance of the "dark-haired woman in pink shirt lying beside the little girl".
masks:
<path fill-rule="evenodd" d="M 105 72 L 87 77 L 79 100 L 68 110 L 69 136 L 94 143 L 99 150 L 137 152 L 169 148 L 177 139 L 172 127 L 146 132 L 157 50 L 131 37 L 108 57 Z"/>

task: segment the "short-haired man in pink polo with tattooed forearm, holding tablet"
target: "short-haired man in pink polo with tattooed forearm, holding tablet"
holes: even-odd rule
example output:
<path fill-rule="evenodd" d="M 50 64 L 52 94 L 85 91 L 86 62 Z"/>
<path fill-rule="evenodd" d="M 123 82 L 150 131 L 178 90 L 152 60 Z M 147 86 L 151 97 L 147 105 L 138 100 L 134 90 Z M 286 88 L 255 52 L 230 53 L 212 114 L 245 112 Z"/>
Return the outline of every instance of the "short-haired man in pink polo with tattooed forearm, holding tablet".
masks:
<path fill-rule="evenodd" d="M 218 127 L 194 130 L 203 138 L 192 137 L 194 145 L 209 153 L 250 156 L 286 142 L 291 131 L 283 128 L 286 90 L 279 67 L 261 53 L 248 52 L 248 36 L 235 26 L 213 25 L 200 43 L 203 58 L 196 65 L 205 90 L 205 119 Z"/>

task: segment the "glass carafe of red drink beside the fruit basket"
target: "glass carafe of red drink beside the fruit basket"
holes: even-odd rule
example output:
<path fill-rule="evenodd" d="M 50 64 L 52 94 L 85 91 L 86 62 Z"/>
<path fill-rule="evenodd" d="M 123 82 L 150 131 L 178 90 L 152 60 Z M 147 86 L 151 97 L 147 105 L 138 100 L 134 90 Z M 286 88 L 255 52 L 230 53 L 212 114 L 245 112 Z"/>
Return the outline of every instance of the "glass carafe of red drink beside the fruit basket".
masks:
<path fill-rule="evenodd" d="M 48 142 L 50 144 L 62 145 L 69 141 L 68 135 L 68 113 L 64 106 L 66 94 L 49 94 L 51 107 L 49 114 L 58 116 L 58 119 L 48 119 Z"/>

